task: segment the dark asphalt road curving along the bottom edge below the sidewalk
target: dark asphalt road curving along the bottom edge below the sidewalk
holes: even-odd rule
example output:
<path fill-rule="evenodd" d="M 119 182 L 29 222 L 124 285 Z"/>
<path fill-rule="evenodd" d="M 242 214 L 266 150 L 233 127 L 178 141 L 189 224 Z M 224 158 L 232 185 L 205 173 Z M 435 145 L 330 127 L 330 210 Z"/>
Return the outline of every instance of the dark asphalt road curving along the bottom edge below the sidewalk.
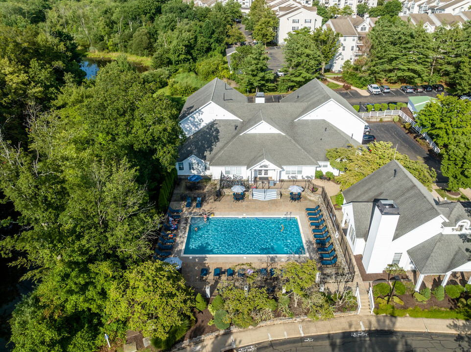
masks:
<path fill-rule="evenodd" d="M 272 340 L 237 352 L 451 352 L 470 351 L 469 335 L 360 331 Z"/>

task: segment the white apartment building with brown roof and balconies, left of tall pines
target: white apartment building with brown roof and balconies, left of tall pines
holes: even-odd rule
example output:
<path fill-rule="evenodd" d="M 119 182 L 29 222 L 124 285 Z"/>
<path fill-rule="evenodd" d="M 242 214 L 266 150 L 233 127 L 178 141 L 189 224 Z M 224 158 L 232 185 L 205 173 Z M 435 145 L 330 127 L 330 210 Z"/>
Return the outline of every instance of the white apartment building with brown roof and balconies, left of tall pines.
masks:
<path fill-rule="evenodd" d="M 364 39 L 368 32 L 375 26 L 377 17 L 361 18 L 356 15 L 349 17 L 338 17 L 330 19 L 324 24 L 323 28 L 331 28 L 334 32 L 340 33 L 342 37 L 339 43 L 342 44 L 337 55 L 330 60 L 326 68 L 331 71 L 341 71 L 345 61 L 352 63 L 364 54 Z"/>

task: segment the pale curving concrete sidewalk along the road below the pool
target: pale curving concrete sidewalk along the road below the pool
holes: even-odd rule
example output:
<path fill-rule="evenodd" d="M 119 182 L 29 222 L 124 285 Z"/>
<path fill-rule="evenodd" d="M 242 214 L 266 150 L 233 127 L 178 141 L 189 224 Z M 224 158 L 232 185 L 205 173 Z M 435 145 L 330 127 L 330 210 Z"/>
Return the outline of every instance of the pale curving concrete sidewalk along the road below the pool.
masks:
<path fill-rule="evenodd" d="M 455 319 L 392 317 L 388 315 L 353 315 L 330 320 L 318 320 L 317 322 L 312 320 L 294 321 L 239 330 L 188 346 L 181 351 L 219 352 L 225 347 L 234 345 L 235 347 L 242 347 L 269 340 L 363 330 L 468 334 L 471 332 L 471 322 Z"/>

